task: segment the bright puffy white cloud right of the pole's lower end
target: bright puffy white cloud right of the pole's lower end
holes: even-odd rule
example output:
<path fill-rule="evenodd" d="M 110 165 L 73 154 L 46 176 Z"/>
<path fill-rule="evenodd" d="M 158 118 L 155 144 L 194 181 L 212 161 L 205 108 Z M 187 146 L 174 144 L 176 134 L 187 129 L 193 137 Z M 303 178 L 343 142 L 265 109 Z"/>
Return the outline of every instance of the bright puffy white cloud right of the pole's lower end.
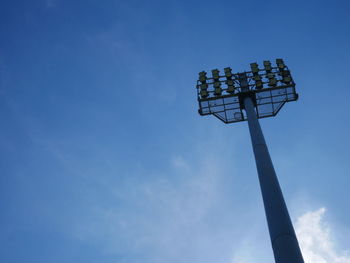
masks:
<path fill-rule="evenodd" d="M 295 230 L 305 263 L 350 263 L 349 251 L 338 252 L 329 224 L 324 221 L 324 207 L 297 219 Z"/>

